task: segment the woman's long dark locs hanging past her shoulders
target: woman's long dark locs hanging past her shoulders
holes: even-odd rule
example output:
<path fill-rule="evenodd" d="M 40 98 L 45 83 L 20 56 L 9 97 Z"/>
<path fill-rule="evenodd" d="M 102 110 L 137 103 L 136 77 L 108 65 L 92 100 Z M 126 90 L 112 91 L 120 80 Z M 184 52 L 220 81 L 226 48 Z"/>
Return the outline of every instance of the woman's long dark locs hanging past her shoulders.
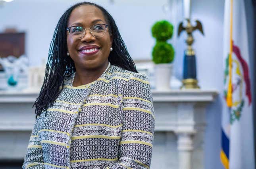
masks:
<path fill-rule="evenodd" d="M 108 61 L 112 65 L 117 65 L 123 69 L 133 71 L 137 73 L 135 63 L 129 55 L 125 43 L 121 38 L 117 26 L 113 17 L 104 8 L 97 4 L 90 2 L 82 2 L 71 6 L 66 12 L 60 17 L 58 24 L 55 28 L 52 41 L 50 43 L 50 49 L 48 54 L 48 61 L 46 63 L 46 71 L 44 77 L 44 83 L 42 85 L 40 94 L 35 101 L 36 117 L 46 111 L 49 106 L 52 106 L 54 100 L 59 96 L 64 86 L 64 78 L 70 77 L 75 72 L 75 64 L 73 60 L 67 56 L 67 22 L 70 13 L 77 7 L 82 5 L 91 5 L 99 8 L 106 21 L 109 25 L 108 31 L 113 38 L 112 48 L 108 57 Z"/>

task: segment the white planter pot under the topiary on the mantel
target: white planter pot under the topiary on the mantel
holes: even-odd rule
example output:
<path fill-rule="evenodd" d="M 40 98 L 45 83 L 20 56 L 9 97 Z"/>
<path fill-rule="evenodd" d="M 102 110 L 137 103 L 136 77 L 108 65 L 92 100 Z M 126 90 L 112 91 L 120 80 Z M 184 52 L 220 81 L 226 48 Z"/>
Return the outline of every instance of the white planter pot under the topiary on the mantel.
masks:
<path fill-rule="evenodd" d="M 155 69 L 154 76 L 155 76 L 156 90 L 169 90 L 173 64 L 171 63 L 156 64 L 154 69 Z"/>

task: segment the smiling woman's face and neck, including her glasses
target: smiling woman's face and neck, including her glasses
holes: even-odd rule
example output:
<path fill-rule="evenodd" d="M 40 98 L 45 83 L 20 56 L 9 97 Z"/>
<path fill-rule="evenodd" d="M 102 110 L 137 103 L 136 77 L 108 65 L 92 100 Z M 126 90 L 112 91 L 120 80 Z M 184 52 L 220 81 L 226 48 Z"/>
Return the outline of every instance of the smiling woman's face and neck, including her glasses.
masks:
<path fill-rule="evenodd" d="M 90 79 L 91 81 L 98 79 L 108 66 L 108 56 L 113 41 L 109 31 L 106 31 L 108 25 L 103 13 L 96 6 L 79 6 L 71 12 L 67 25 L 69 27 L 67 49 L 75 63 L 77 73 L 83 72 L 78 69 L 93 69 L 97 75 L 90 75 L 93 78 Z M 95 70 L 97 71 L 95 72 Z M 84 76 L 75 76 L 75 85 L 82 85 L 83 80 L 85 83 L 90 83 L 90 81 L 86 81 L 88 78 L 77 81 L 77 77 Z"/>

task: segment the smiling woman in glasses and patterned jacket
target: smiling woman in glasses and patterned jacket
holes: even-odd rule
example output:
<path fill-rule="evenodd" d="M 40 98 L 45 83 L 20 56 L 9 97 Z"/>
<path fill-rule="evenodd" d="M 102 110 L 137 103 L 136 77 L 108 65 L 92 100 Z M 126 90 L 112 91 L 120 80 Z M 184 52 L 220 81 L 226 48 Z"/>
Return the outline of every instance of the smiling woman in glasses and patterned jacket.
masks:
<path fill-rule="evenodd" d="M 62 15 L 34 106 L 23 168 L 150 167 L 150 85 L 101 6 L 83 2 Z"/>

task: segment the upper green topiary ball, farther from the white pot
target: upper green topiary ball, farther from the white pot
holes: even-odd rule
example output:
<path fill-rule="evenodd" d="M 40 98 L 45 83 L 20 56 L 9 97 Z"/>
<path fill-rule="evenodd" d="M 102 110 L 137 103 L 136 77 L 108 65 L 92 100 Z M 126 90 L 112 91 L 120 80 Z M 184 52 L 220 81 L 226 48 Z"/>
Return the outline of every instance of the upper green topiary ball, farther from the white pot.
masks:
<path fill-rule="evenodd" d="M 166 41 L 173 35 L 173 25 L 166 20 L 158 21 L 153 25 L 151 31 L 157 41 Z"/>

